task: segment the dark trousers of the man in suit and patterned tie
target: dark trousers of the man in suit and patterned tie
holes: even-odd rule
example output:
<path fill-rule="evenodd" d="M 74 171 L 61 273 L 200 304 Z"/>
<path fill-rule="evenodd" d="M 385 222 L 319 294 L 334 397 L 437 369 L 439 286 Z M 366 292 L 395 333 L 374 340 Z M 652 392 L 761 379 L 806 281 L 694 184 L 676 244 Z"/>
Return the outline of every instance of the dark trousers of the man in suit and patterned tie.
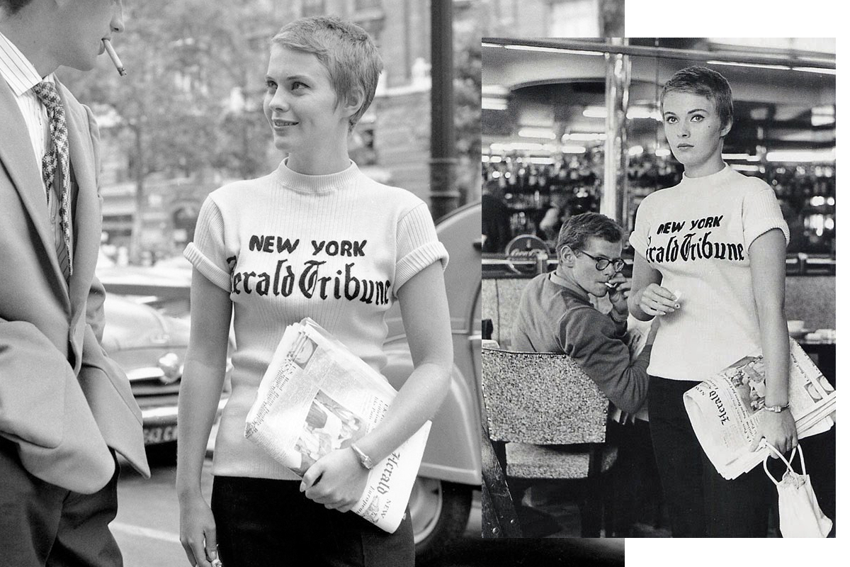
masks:
<path fill-rule="evenodd" d="M 118 509 L 118 464 L 109 484 L 78 494 L 37 479 L 17 445 L 0 438 L 0 564 L 121 567 L 109 523 Z"/>

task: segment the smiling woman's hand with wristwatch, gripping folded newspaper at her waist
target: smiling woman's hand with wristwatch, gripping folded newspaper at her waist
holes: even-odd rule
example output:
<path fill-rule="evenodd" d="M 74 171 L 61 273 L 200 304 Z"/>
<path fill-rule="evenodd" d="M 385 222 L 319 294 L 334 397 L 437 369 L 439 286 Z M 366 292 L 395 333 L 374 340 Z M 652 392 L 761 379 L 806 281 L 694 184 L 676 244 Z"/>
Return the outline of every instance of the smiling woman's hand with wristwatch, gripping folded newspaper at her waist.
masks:
<path fill-rule="evenodd" d="M 369 471 L 350 447 L 331 451 L 307 469 L 301 491 L 328 509 L 348 512 L 360 500 Z"/>

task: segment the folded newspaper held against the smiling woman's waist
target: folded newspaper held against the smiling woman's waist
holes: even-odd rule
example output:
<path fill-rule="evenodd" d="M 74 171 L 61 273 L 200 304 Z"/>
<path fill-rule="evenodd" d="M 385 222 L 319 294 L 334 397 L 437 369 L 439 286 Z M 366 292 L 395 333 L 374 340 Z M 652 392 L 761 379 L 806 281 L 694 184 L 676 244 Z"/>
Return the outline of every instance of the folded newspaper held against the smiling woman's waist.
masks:
<path fill-rule="evenodd" d="M 314 320 L 286 327 L 245 437 L 299 477 L 331 451 L 355 443 L 381 422 L 395 389 Z M 371 469 L 353 512 L 390 533 L 404 518 L 431 422 Z"/>

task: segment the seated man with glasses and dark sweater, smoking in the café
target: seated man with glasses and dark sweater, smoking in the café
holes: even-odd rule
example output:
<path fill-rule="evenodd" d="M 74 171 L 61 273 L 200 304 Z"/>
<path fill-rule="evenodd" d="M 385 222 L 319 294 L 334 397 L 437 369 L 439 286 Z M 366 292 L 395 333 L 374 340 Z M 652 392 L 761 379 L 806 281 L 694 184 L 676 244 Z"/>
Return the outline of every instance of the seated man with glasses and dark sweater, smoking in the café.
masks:
<path fill-rule="evenodd" d="M 622 238 L 620 225 L 602 214 L 582 213 L 567 220 L 558 233 L 558 268 L 537 275 L 525 286 L 511 346 L 526 352 L 569 354 L 617 408 L 640 418 L 626 422 L 616 412 L 612 417 L 617 422 L 609 422 L 608 427 L 608 442 L 618 447 L 617 462 L 607 473 L 612 482 L 606 507 L 614 518 L 608 535 L 618 537 L 635 535 L 640 510 L 653 507 L 660 494 L 649 424 L 643 421 L 647 417 L 642 411 L 656 327 L 650 327 L 646 346 L 632 357 L 626 332 L 630 285 L 621 274 L 625 266 L 620 258 Z M 606 295 L 613 306 L 607 315 L 590 299 Z M 537 488 L 537 496 L 526 494 L 529 502 L 540 498 L 546 502 L 546 488 Z M 556 494 L 561 490 L 557 485 L 549 488 Z"/>

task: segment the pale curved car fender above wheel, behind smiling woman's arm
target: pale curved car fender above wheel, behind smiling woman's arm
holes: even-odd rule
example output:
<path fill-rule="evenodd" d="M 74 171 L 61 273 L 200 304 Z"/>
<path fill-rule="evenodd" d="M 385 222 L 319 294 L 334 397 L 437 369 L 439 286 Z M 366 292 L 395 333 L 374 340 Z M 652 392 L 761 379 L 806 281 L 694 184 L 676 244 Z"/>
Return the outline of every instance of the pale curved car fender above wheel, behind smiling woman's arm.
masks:
<path fill-rule="evenodd" d="M 413 371 L 413 360 L 403 339 L 384 344 L 387 365 L 382 373 L 394 388 L 401 388 Z M 477 394 L 456 365 L 451 367 L 449 391 L 434 414 L 428 445 L 419 474 L 464 485 L 481 485 L 481 450 Z"/>

